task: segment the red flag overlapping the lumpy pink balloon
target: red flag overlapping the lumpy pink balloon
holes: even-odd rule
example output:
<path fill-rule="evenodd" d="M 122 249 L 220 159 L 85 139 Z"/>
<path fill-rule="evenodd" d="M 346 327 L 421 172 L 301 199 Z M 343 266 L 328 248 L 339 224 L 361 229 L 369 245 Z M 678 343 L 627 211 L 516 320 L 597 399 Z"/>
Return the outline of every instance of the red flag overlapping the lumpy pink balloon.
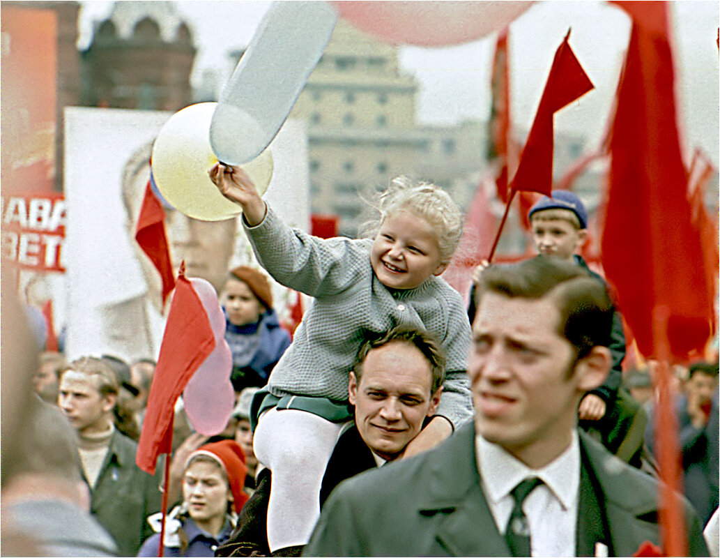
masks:
<path fill-rule="evenodd" d="M 154 474 L 158 456 L 172 451 L 175 402 L 214 349 L 215 335 L 210 319 L 192 283 L 185 278 L 183 262 L 168 312 L 135 457 L 135 462 L 143 471 Z"/>

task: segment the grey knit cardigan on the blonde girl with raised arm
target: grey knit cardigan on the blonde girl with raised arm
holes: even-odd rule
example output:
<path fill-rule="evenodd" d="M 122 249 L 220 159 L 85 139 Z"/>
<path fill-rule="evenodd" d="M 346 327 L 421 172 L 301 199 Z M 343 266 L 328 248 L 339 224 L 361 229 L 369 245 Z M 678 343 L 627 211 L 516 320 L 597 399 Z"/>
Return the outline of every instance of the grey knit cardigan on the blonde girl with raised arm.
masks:
<path fill-rule="evenodd" d="M 258 262 L 278 283 L 315 297 L 270 375 L 272 394 L 346 400 L 364 333 L 408 324 L 431 332 L 447 358 L 438 415 L 455 428 L 472 417 L 465 373 L 470 324 L 462 297 L 445 280 L 432 276 L 418 288 L 389 289 L 373 273 L 372 240 L 319 239 L 290 228 L 271 208 L 245 230 Z"/>

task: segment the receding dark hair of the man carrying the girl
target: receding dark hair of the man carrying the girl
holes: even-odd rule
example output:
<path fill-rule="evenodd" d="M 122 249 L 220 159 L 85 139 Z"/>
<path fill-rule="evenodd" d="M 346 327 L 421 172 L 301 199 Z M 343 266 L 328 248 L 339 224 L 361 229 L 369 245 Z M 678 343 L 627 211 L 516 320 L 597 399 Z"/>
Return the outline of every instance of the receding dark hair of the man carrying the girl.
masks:
<path fill-rule="evenodd" d="M 392 342 L 413 345 L 420 350 L 420 353 L 423 353 L 423 356 L 430 364 L 430 371 L 432 374 L 430 393 L 434 394 L 438 391 L 445 381 L 445 355 L 433 336 L 425 329 L 420 329 L 418 327 L 397 326 L 390 329 L 390 331 L 384 335 L 379 335 L 366 340 L 360 347 L 353 366 L 353 371 L 358 383 L 360 383 L 362 365 L 365 362 L 368 353 L 373 349 L 378 349 L 379 347 L 388 345 Z"/>

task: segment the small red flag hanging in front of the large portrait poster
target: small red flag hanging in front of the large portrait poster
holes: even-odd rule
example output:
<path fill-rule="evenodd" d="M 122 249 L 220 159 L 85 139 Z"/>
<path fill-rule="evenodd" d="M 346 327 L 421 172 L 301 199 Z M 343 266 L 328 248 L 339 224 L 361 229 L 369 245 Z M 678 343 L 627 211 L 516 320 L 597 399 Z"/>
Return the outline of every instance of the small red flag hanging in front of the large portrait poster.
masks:
<path fill-rule="evenodd" d="M 165 211 L 153 194 L 150 181 L 145 187 L 145 198 L 140 208 L 138 224 L 135 226 L 135 240 L 145 254 L 148 254 L 163 280 L 163 304 L 175 287 L 173 266 L 170 262 L 168 239 L 165 234 Z"/>

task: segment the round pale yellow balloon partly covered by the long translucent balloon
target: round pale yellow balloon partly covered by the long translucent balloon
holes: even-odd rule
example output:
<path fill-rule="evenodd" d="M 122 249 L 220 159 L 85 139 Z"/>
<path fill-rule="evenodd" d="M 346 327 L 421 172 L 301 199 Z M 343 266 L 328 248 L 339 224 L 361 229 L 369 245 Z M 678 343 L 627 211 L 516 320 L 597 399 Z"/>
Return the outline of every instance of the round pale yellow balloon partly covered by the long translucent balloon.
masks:
<path fill-rule="evenodd" d="M 216 106 L 215 102 L 201 102 L 172 115 L 153 144 L 150 165 L 163 199 L 186 216 L 201 221 L 221 221 L 242 212 L 239 205 L 217 190 L 207 174 L 217 163 L 210 147 L 210 120 Z M 238 134 L 235 141 L 242 143 L 242 137 Z M 272 177 L 270 150 L 242 167 L 262 195 Z"/>

